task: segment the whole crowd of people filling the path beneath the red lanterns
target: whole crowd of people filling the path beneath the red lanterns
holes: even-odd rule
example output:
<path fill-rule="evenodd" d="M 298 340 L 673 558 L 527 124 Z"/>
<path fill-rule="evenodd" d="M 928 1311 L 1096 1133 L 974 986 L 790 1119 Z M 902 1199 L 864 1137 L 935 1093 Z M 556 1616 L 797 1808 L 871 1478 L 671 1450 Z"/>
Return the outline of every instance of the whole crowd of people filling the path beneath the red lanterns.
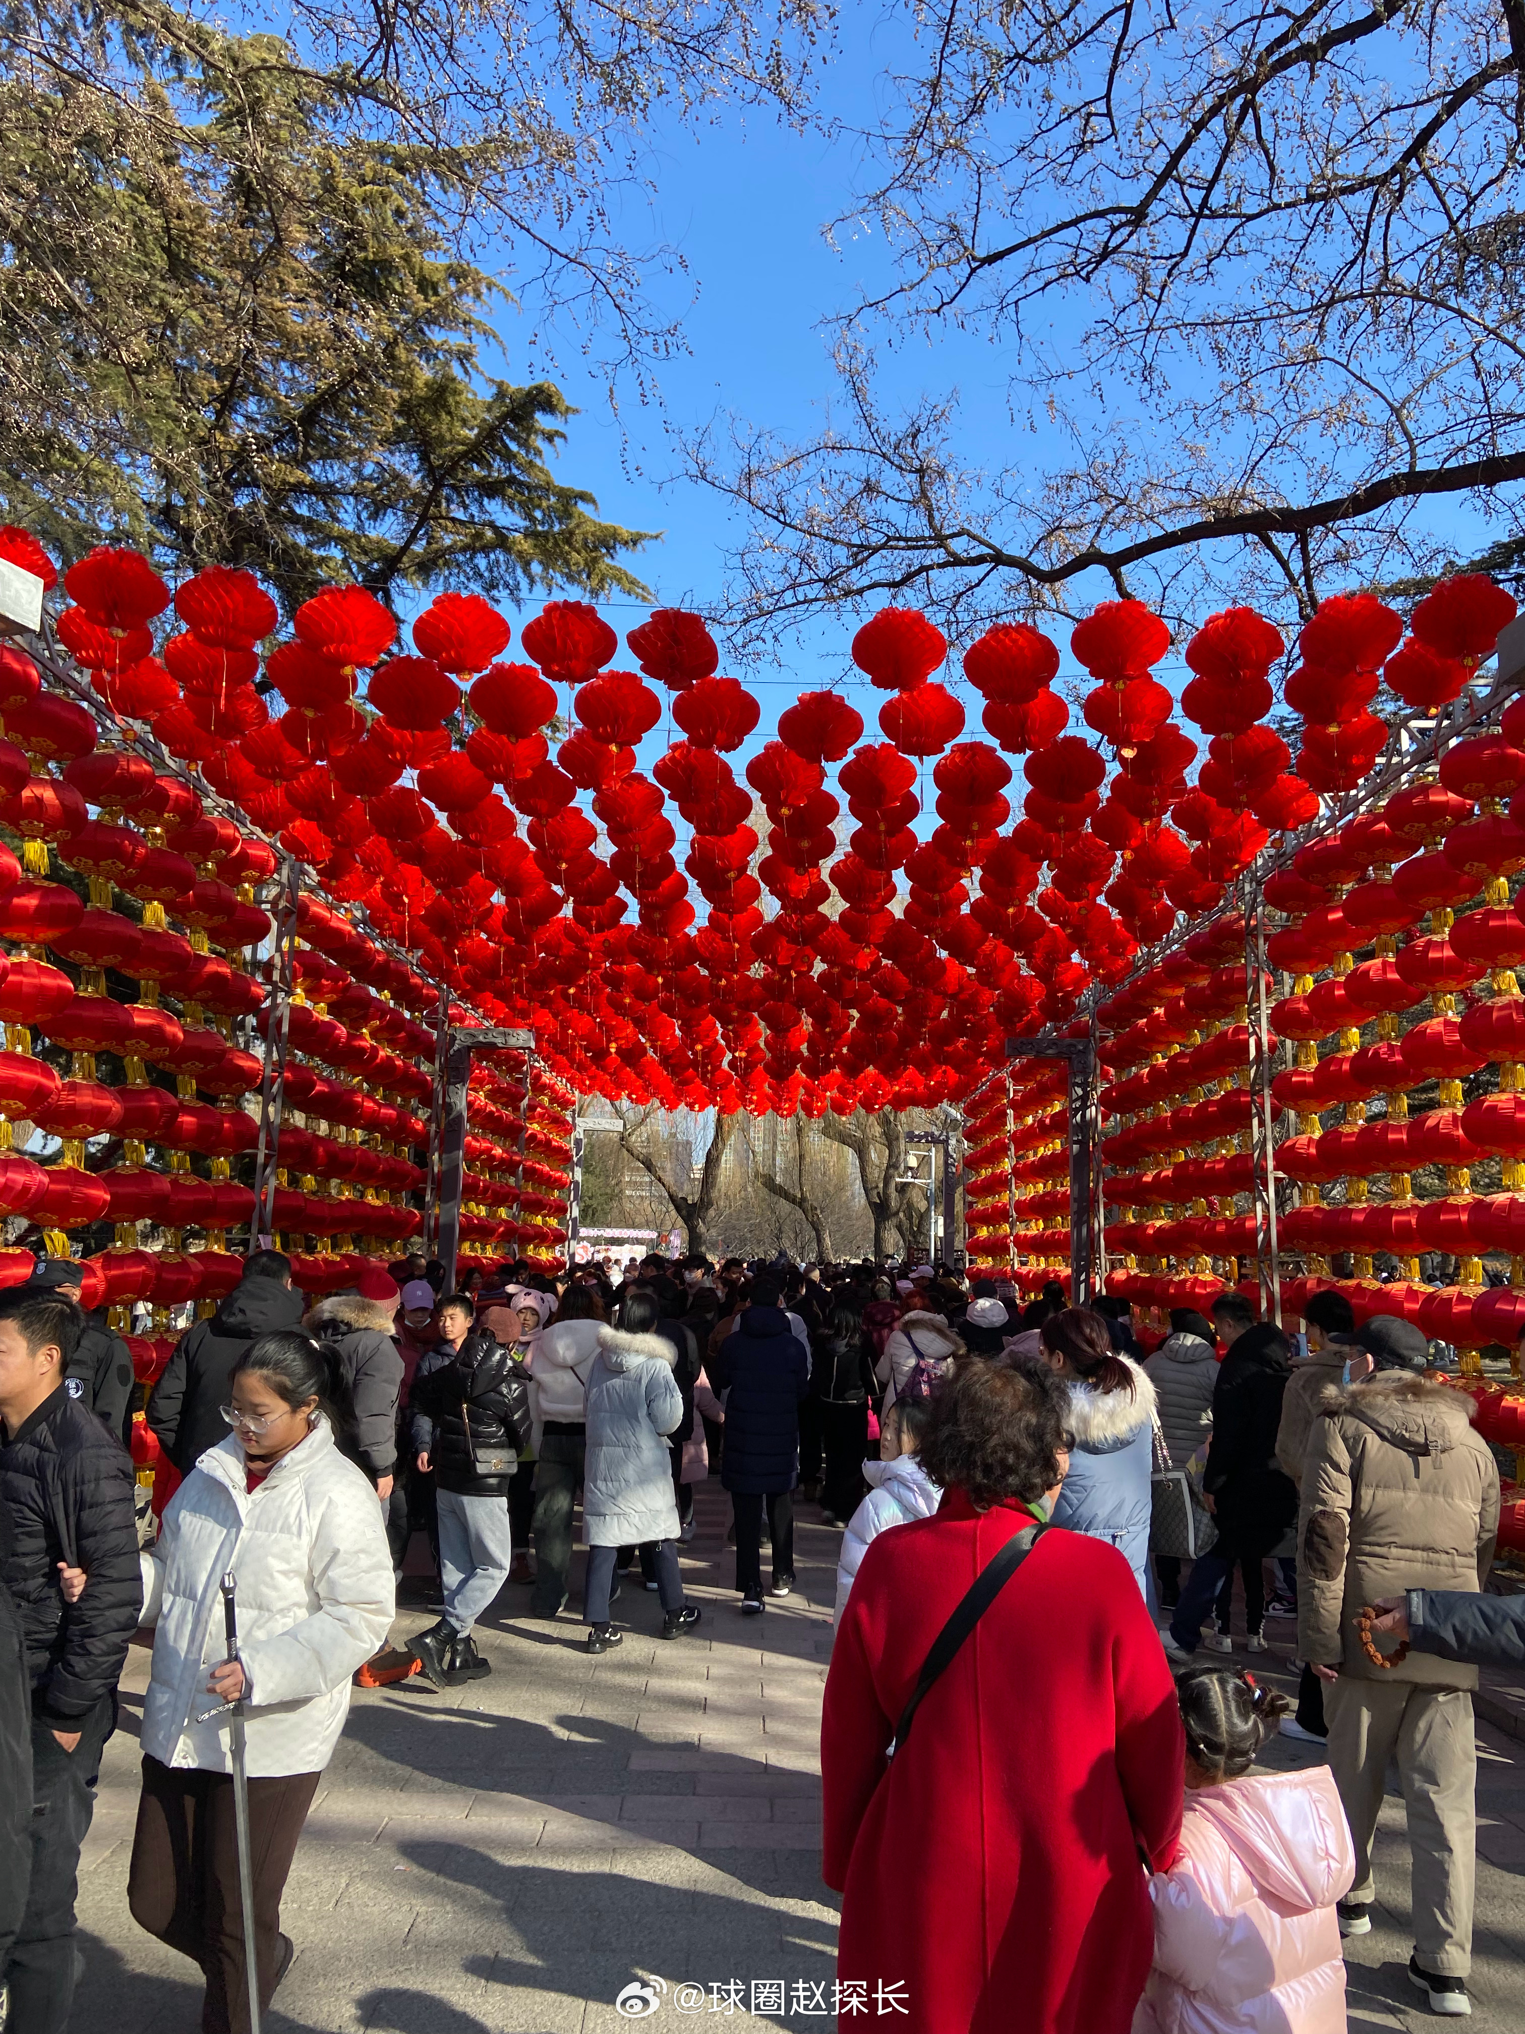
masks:
<path fill-rule="evenodd" d="M 1015 1997 L 1033 2034 L 1334 2034 L 1395 1759 L 1409 1977 L 1470 2010 L 1470 1694 L 1478 1662 L 1525 1658 L 1525 1619 L 1482 1595 L 1492 1452 L 1407 1322 L 1356 1328 L 1320 1294 L 1293 1342 L 1238 1292 L 1147 1326 L 1057 1285 L 1023 1304 L 931 1265 L 697 1253 L 455 1292 L 415 1257 L 309 1308 L 256 1251 L 148 1399 L 144 1532 L 120 1357 L 69 1271 L 0 1292 L 0 1969 L 26 2034 L 69 2020 L 75 1865 L 134 1633 L 130 1908 L 203 1973 L 205 2034 L 242 2034 L 232 1707 L 268 2001 L 352 1680 L 490 1674 L 476 1627 L 510 1584 L 545 1621 L 580 1591 L 594 1656 L 638 1584 L 683 1639 L 714 1615 L 681 1550 L 716 1473 L 742 1617 L 797 1589 L 797 1507 L 842 1534 L 821 1772 L 844 1983 L 903 1983 L 923 2034 L 1006 2026 Z M 392 1652 L 419 1544 L 439 1615 Z M 1285 1621 L 1295 1715 L 1202 1658 L 1234 1650 L 1236 1615 L 1248 1654 Z M 1255 1770 L 1277 1729 L 1328 1763 Z"/>

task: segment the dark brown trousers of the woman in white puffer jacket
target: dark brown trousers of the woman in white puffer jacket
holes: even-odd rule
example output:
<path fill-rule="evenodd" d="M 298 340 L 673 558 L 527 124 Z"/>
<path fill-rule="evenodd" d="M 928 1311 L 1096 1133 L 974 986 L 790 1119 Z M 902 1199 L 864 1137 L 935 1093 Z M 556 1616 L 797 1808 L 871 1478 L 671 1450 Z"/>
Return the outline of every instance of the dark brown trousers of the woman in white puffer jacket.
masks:
<path fill-rule="evenodd" d="M 285 1774 L 248 1782 L 260 2016 L 270 2003 L 281 1961 L 281 1894 L 319 1778 Z M 189 1957 L 205 1975 L 201 2034 L 248 2034 L 232 1774 L 171 1768 L 144 1757 L 128 1906 L 140 1928 Z"/>

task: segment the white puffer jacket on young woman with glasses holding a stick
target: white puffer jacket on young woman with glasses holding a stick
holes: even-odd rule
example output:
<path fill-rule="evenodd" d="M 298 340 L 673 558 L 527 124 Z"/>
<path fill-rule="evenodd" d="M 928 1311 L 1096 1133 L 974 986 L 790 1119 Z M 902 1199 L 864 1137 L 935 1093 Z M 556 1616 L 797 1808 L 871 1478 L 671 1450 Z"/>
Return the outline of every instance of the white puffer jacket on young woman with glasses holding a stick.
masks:
<path fill-rule="evenodd" d="M 376 1493 L 319 1420 L 248 1491 L 236 1436 L 207 1448 L 142 1556 L 142 1621 L 157 1625 L 142 1749 L 161 1766 L 230 1772 L 218 1698 L 226 1656 L 222 1578 L 238 1578 L 238 1656 L 248 1674 L 250 1780 L 327 1766 L 350 1713 L 350 1676 L 392 1625 L 392 1556 Z"/>

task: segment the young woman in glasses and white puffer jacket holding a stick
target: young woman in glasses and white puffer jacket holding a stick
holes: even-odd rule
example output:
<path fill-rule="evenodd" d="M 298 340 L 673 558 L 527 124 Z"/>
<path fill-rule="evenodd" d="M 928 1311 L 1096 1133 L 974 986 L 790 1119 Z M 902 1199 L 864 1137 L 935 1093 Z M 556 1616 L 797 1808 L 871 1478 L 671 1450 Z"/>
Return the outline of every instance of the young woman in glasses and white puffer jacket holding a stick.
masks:
<path fill-rule="evenodd" d="M 350 1713 L 350 1678 L 392 1623 L 392 1560 L 376 1493 L 340 1452 L 348 1371 L 285 1330 L 240 1359 L 218 1448 L 165 1507 L 142 1556 L 155 1625 L 142 1704 L 142 1796 L 128 1906 L 205 1973 L 203 2034 L 248 2034 L 228 1715 L 244 1700 L 254 1965 L 262 2008 L 295 1945 L 281 1894 Z M 238 1660 L 224 1660 L 222 1578 L 238 1582 Z M 89 1603 L 100 1574 L 87 1574 Z"/>

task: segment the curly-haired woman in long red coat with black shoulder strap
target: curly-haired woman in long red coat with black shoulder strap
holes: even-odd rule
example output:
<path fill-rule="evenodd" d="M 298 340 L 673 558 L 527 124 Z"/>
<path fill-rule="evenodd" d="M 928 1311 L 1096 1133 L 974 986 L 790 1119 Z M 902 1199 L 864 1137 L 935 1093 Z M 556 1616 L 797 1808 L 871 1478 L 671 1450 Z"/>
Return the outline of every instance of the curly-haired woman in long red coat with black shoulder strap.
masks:
<path fill-rule="evenodd" d="M 1126 1560 L 1039 1521 L 1063 1475 L 1049 1373 L 958 1365 L 921 1467 L 941 1509 L 868 1548 L 821 1717 L 838 2026 L 1128 2034 L 1153 1955 L 1151 1871 L 1181 1829 L 1181 1719 Z M 937 1633 L 1013 1536 L 1037 1538 L 895 1727 Z M 862 1987 L 862 1989 L 858 1989 Z"/>

